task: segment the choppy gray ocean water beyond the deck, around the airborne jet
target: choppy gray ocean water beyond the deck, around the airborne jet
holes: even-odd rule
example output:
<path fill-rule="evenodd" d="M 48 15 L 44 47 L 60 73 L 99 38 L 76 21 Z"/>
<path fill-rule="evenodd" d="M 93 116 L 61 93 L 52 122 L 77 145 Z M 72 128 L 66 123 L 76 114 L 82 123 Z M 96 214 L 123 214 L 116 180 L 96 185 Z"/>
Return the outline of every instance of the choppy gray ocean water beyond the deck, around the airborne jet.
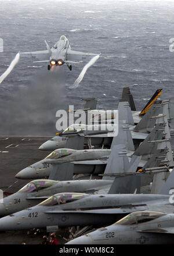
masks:
<path fill-rule="evenodd" d="M 70 89 L 86 62 L 49 72 L 21 57 L 0 84 L 0 134 L 54 136 L 56 111 L 81 108 L 96 97 L 99 109 L 117 109 L 130 87 L 137 110 L 158 88 L 173 100 L 174 1 L 0 0 L 0 74 L 17 52 L 46 49 L 66 35 L 71 49 L 100 54 L 79 87 Z M 37 59 L 34 59 L 37 61 Z"/>

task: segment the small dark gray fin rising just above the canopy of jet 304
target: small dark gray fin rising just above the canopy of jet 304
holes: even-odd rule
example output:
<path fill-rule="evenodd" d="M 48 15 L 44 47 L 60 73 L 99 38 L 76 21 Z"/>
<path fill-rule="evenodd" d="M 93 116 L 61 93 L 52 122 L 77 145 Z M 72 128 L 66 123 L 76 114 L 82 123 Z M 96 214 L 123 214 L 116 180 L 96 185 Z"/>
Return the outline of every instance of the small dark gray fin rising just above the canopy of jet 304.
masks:
<path fill-rule="evenodd" d="M 65 148 L 72 148 L 73 150 L 83 150 L 84 136 L 79 136 L 78 134 L 76 134 L 68 137 Z"/>

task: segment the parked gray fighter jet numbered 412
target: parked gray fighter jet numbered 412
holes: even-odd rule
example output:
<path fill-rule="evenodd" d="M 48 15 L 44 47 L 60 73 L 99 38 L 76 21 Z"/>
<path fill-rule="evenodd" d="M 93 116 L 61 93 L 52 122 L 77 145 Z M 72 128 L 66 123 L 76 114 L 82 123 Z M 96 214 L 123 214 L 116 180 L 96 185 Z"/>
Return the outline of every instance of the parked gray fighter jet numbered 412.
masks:
<path fill-rule="evenodd" d="M 59 193 L 40 204 L 0 219 L 0 231 L 23 230 L 58 225 L 59 227 L 111 225 L 135 211 L 173 212 L 171 182 L 174 169 L 161 194 L 100 194 Z M 132 185 L 135 185 L 132 182 Z M 130 186 L 130 185 L 129 185 Z M 111 186 L 113 191 L 114 183 Z"/>

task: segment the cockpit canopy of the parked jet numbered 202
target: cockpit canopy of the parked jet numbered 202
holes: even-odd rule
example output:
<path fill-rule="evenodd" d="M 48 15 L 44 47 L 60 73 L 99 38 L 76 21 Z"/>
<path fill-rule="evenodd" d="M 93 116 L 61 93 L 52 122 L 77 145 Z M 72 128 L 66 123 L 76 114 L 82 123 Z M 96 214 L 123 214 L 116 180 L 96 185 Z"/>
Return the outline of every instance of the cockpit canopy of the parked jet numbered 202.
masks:
<path fill-rule="evenodd" d="M 139 223 L 152 221 L 153 219 L 160 218 L 164 216 L 162 212 L 151 212 L 151 211 L 141 211 L 141 212 L 132 212 L 131 214 L 125 216 L 119 221 L 115 222 L 115 225 L 136 225 Z"/>

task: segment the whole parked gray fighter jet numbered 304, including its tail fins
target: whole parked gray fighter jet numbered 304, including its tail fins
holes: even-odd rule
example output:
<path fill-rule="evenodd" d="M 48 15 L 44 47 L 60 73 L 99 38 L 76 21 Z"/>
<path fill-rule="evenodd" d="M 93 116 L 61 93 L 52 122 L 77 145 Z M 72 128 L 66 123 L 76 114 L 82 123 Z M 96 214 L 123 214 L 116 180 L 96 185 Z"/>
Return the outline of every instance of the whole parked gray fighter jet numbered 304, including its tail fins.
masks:
<path fill-rule="evenodd" d="M 161 119 L 164 117 L 160 116 Z M 160 119 L 159 118 L 159 119 Z M 113 143 L 111 144 L 111 148 L 114 145 L 124 144 L 126 146 L 126 150 L 129 151 L 129 157 L 131 159 L 136 158 L 137 155 L 142 155 L 142 163 L 140 163 L 140 167 L 144 166 L 150 159 L 153 157 L 154 154 L 157 154 L 157 150 L 160 144 L 161 149 L 168 148 L 169 152 L 166 158 L 166 161 L 168 161 L 169 166 L 173 167 L 173 157 L 172 157 L 172 151 L 171 151 L 171 145 L 168 141 L 169 137 L 169 131 L 166 127 L 168 127 L 168 121 L 166 122 L 160 121 L 162 123 L 158 123 L 155 125 L 154 129 L 151 131 L 150 134 L 148 134 L 147 138 L 143 141 L 143 143 L 140 145 L 139 148 L 135 151 L 132 137 L 131 137 L 131 131 L 129 130 L 129 127 L 126 127 L 124 124 L 119 124 L 119 133 L 118 136 L 114 137 Z M 77 142 L 77 138 L 75 140 Z M 84 144 L 82 142 L 82 144 Z M 134 152 L 135 151 L 135 152 Z M 48 157 L 42 159 L 41 161 L 34 163 L 31 166 L 28 166 L 27 168 L 21 170 L 19 173 L 17 173 L 16 177 L 19 179 L 38 179 L 38 178 L 44 178 L 48 177 L 50 173 L 53 170 L 52 163 L 57 162 L 77 162 L 80 164 L 84 164 L 85 166 L 89 164 L 87 161 L 91 161 L 90 164 L 106 164 L 107 158 L 110 155 L 111 150 L 71 150 L 71 149 L 60 149 L 53 151 Z M 158 154 L 157 154 L 158 155 Z M 105 162 L 101 162 L 98 159 L 105 158 Z M 97 163 L 93 162 L 95 160 Z M 104 159 L 103 159 L 104 160 Z M 83 162 L 81 162 L 83 161 Z M 155 167 L 155 166 L 151 166 Z M 81 166 L 80 173 L 88 172 L 88 168 L 86 171 L 83 170 Z M 103 169 L 100 170 L 99 173 L 102 173 Z M 78 172 L 79 173 L 79 172 Z M 89 172 L 88 172 L 89 173 Z M 75 173 L 77 174 L 77 173 Z M 52 177 L 50 177 L 52 179 Z"/>

